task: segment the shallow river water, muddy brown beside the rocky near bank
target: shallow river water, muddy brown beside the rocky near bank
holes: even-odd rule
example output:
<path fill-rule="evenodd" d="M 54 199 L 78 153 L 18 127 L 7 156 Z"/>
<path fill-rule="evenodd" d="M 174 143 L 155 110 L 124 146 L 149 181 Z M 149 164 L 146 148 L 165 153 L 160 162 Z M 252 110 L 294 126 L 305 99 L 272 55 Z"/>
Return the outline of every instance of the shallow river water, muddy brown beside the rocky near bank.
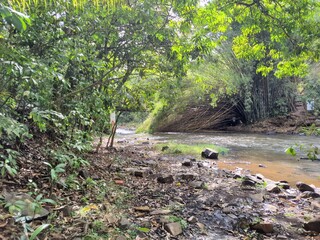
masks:
<path fill-rule="evenodd" d="M 135 134 L 134 131 L 118 129 L 118 139 L 151 139 L 157 142 L 182 144 L 215 144 L 226 147 L 229 152 L 220 155 L 217 164 L 221 168 L 250 170 L 265 177 L 286 180 L 292 186 L 297 181 L 320 187 L 320 161 L 298 160 L 306 153 L 298 151 L 296 157 L 285 154 L 289 146 L 311 144 L 320 147 L 320 138 L 299 135 L 266 135 L 228 132 L 206 133 L 158 133 L 154 135 Z M 199 159 L 200 159 L 199 153 Z"/>

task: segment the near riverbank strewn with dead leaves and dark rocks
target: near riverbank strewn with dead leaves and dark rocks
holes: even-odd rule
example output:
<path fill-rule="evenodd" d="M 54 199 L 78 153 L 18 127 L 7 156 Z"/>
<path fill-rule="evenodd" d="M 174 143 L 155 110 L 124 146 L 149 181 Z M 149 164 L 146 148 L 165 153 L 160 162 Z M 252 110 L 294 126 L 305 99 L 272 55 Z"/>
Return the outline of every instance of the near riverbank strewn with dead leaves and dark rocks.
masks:
<path fill-rule="evenodd" d="M 87 159 L 89 166 L 62 174 L 53 189 L 41 159 L 26 161 L 14 180 L 1 179 L 7 206 L 26 204 L 21 211 L 0 208 L 0 239 L 41 226 L 39 239 L 54 240 L 319 239 L 320 195 L 313 186 L 299 190 L 219 169 L 213 160 L 164 155 L 145 136 L 122 136 L 114 149 Z"/>

